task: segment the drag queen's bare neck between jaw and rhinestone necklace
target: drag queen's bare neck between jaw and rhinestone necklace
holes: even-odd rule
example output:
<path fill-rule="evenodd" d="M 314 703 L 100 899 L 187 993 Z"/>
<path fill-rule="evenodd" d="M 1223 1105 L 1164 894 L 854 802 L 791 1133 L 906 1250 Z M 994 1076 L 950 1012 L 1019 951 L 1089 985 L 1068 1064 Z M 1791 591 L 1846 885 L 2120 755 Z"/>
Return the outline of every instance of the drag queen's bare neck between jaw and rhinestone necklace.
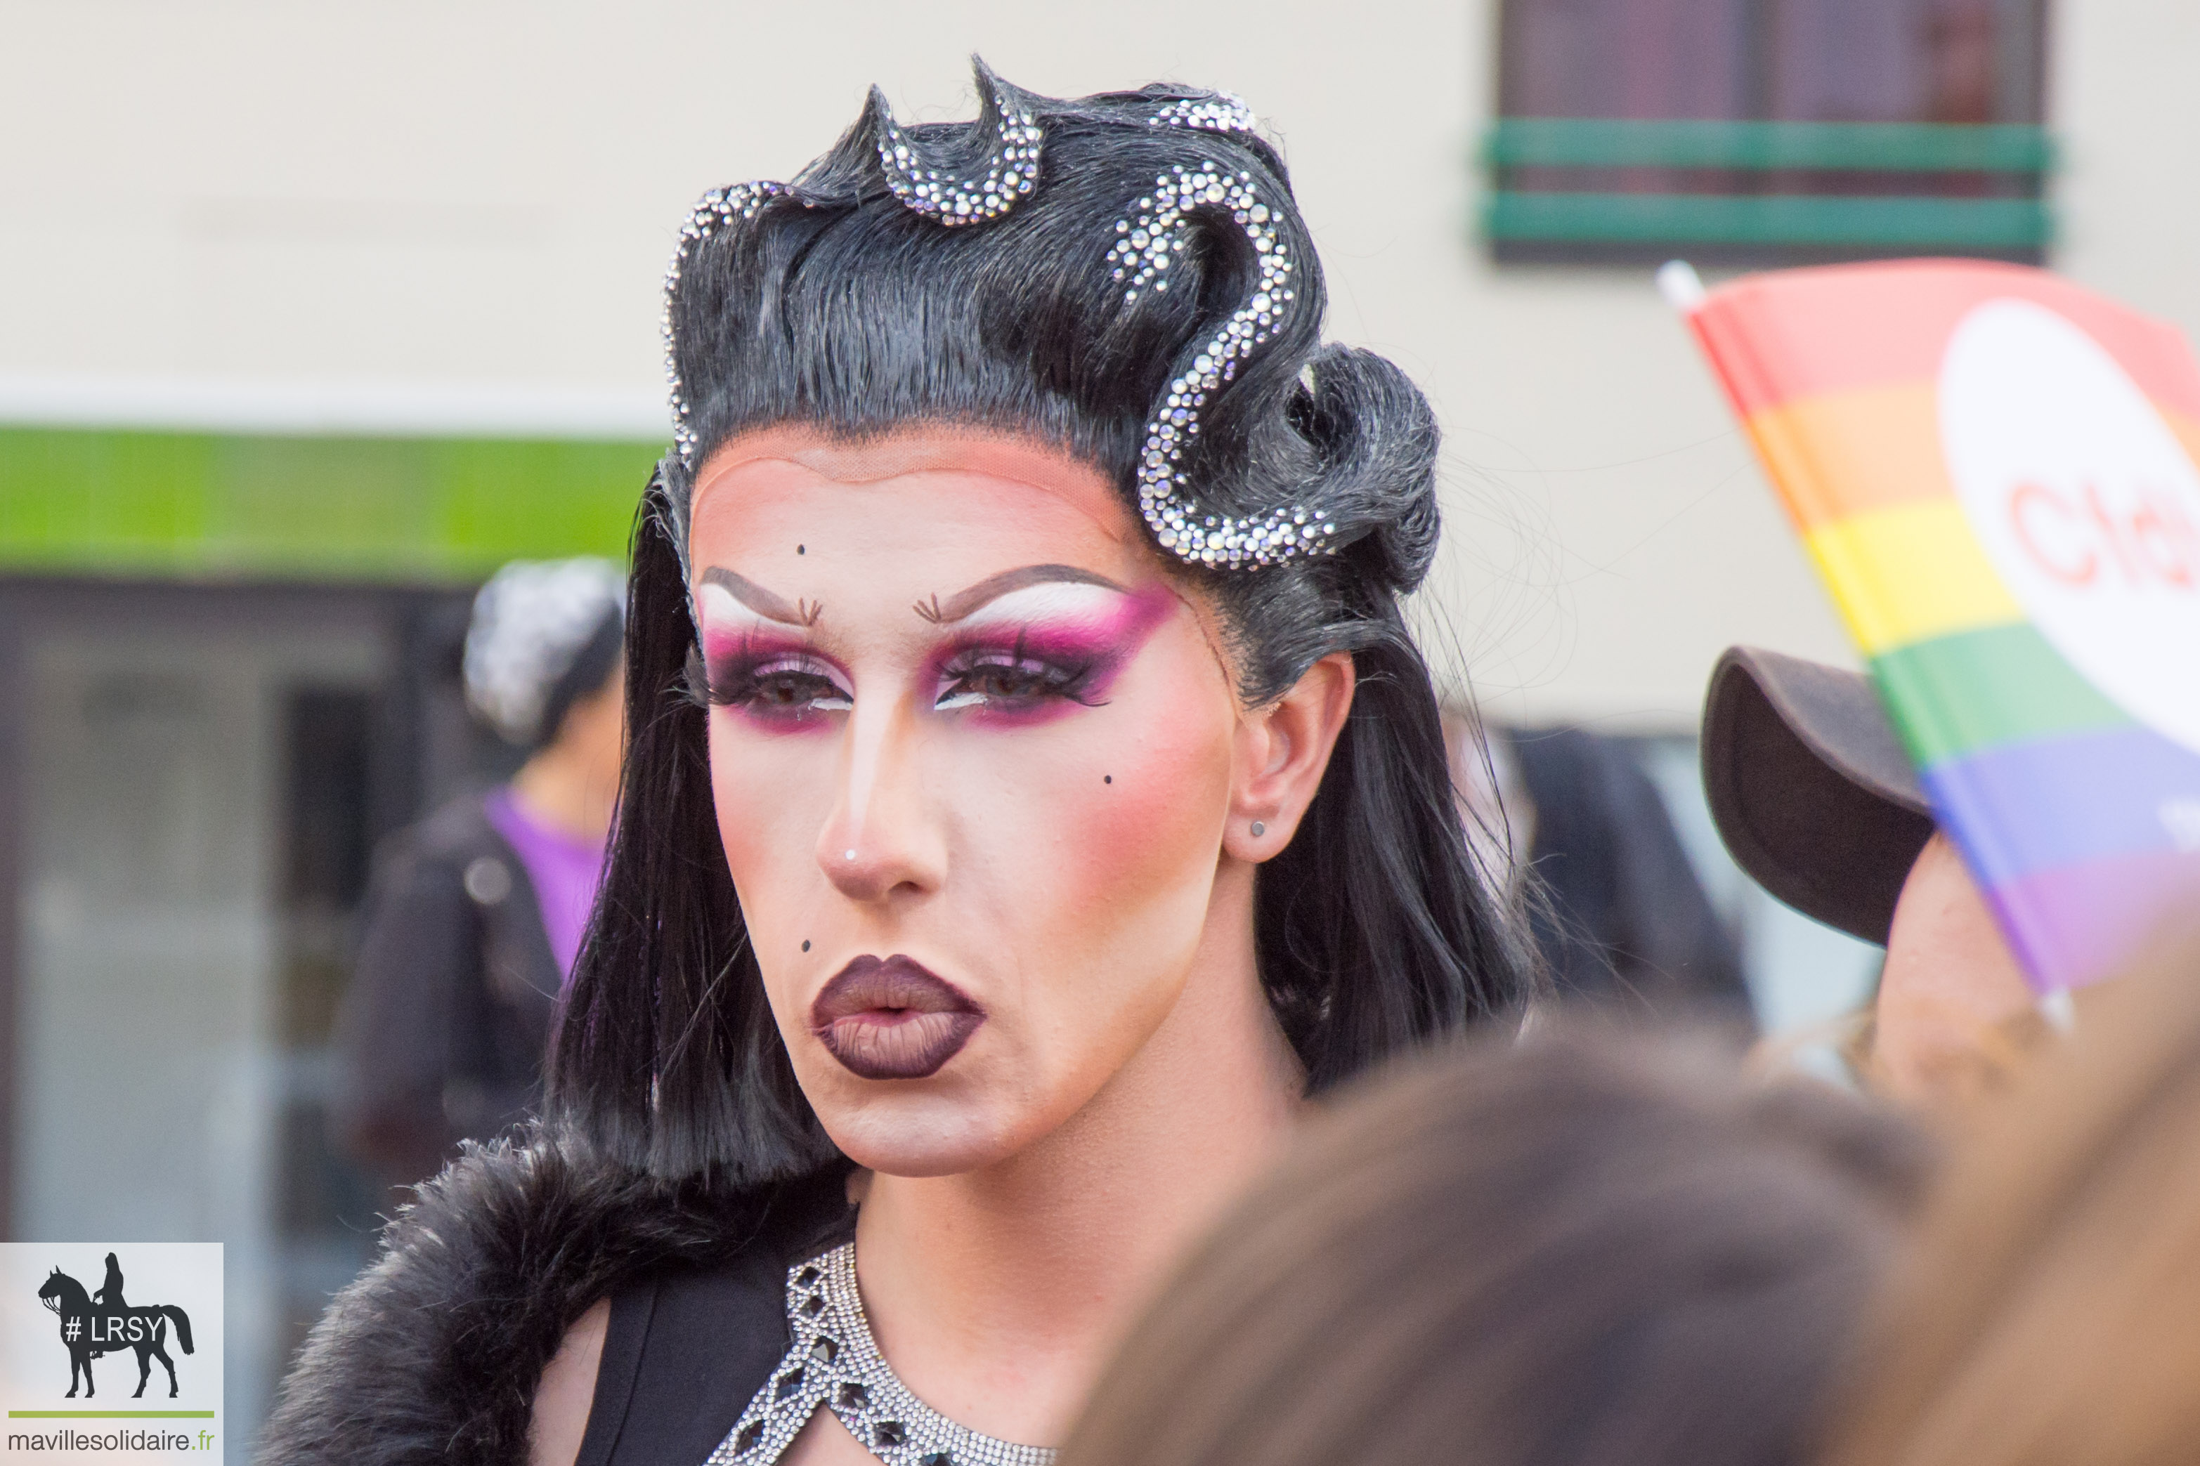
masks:
<path fill-rule="evenodd" d="M 1225 862 L 1181 998 L 1082 1110 L 981 1171 L 869 1178 L 858 1273 L 895 1374 L 972 1431 L 1056 1444 L 1175 1255 L 1278 1152 L 1302 1088 L 1254 965 L 1252 868 Z"/>

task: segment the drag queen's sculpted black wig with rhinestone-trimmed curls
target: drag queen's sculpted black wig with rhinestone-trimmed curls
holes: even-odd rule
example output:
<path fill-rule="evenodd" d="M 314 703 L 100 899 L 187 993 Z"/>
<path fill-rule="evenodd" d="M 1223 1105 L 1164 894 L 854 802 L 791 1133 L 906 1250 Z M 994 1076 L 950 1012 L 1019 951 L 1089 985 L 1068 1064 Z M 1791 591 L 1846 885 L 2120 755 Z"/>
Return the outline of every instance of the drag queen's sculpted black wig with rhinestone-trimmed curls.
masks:
<path fill-rule="evenodd" d="M 975 123 L 911 127 L 873 90 L 790 185 L 706 196 L 667 281 L 678 444 L 636 523 L 618 833 L 548 1095 L 550 1123 L 658 1176 L 836 1158 L 748 945 L 689 673 L 691 475 L 750 429 L 1060 446 L 1212 596 L 1247 706 L 1353 655 L 1329 771 L 1256 881 L 1261 980 L 1311 1090 L 1527 996 L 1399 609 L 1434 556 L 1437 422 L 1388 360 L 1322 345 L 1283 158 L 1217 92 L 1056 101 L 983 64 L 977 90 Z"/>

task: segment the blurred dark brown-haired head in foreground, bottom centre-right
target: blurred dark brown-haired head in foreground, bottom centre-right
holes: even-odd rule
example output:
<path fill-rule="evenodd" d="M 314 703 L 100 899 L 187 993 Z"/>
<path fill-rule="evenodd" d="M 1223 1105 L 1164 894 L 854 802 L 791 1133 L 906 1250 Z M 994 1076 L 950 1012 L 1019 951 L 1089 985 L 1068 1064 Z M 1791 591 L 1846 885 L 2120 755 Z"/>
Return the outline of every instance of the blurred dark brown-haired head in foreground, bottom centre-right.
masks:
<path fill-rule="evenodd" d="M 1916 1136 L 1584 1029 L 1408 1070 L 1179 1268 L 1060 1466 L 1767 1466 L 1894 1251 Z"/>

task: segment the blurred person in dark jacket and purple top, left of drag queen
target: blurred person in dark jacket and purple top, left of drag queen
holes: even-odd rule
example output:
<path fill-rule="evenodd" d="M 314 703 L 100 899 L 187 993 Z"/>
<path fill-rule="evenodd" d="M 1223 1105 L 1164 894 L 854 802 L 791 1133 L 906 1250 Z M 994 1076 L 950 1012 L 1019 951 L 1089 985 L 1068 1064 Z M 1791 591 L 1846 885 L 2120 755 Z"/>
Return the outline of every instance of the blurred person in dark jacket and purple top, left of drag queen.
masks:
<path fill-rule="evenodd" d="M 618 800 L 623 609 L 625 576 L 596 558 L 517 560 L 473 602 L 466 701 L 528 758 L 376 853 L 334 1123 L 387 1185 L 541 1101 Z"/>

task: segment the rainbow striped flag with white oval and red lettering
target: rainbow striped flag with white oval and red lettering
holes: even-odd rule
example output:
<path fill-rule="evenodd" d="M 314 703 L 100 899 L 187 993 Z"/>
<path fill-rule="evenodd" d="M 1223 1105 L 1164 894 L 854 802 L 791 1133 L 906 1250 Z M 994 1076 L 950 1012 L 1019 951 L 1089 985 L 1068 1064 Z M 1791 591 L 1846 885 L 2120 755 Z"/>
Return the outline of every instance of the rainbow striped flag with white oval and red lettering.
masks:
<path fill-rule="evenodd" d="M 2200 367 L 2044 270 L 1780 270 L 1683 301 L 2042 991 L 2200 903 Z"/>

